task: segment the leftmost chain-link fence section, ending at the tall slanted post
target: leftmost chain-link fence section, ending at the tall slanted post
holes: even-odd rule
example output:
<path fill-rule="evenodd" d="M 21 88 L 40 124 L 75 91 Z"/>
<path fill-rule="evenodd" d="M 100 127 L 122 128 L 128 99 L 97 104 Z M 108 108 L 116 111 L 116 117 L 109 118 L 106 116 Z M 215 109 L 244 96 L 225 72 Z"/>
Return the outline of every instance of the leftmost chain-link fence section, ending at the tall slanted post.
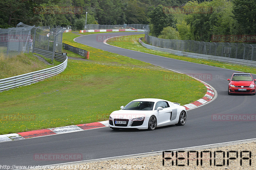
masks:
<path fill-rule="evenodd" d="M 0 29 L 0 53 L 9 56 L 20 52 L 28 53 L 33 28 L 34 26 Z"/>

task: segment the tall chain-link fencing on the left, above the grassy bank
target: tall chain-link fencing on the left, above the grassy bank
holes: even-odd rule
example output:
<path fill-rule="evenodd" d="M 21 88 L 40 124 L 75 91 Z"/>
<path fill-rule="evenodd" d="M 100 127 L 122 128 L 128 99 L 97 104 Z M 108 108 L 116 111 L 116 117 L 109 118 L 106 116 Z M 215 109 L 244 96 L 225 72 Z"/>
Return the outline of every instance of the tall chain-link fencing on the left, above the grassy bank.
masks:
<path fill-rule="evenodd" d="M 35 48 L 61 53 L 64 31 L 60 26 L 35 27 L 23 23 L 17 28 L 0 29 L 0 54 L 13 56 L 34 52 Z"/>

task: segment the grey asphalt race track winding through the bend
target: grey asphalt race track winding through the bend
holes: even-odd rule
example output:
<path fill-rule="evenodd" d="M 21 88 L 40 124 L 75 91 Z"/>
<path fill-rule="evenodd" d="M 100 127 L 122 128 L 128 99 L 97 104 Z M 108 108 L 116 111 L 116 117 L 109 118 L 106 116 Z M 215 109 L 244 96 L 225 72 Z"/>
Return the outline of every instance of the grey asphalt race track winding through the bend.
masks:
<path fill-rule="evenodd" d="M 89 160 L 256 137 L 255 121 L 212 121 L 211 118 L 213 114 L 255 114 L 254 104 L 256 96 L 228 95 L 227 79 L 235 71 L 126 50 L 109 46 L 102 42 L 103 39 L 110 36 L 131 34 L 141 33 L 113 32 L 91 34 L 76 38 L 75 41 L 181 73 L 210 75 L 212 76 L 211 79 L 203 79 L 203 81 L 216 89 L 218 93 L 217 98 L 202 107 L 188 110 L 188 119 L 185 126 L 167 126 L 157 128 L 154 131 L 113 131 L 108 127 L 104 127 L 2 142 L 0 143 L 0 165 L 38 166 L 64 162 L 35 161 L 33 155 L 38 153 L 80 153 L 83 154 L 83 160 Z M 253 78 L 256 79 L 256 75 L 253 75 Z M 172 100 L 170 99 L 170 101 Z M 162 160 L 159 161 L 161 162 Z"/>

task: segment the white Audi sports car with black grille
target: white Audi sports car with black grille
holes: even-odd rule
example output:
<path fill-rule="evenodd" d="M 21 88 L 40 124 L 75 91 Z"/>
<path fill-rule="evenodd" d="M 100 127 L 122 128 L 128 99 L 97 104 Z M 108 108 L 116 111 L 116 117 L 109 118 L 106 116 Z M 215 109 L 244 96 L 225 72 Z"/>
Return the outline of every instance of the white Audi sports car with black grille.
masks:
<path fill-rule="evenodd" d="M 108 126 L 112 129 L 154 130 L 171 124 L 184 125 L 187 120 L 184 106 L 162 99 L 136 99 L 120 108 L 109 115 Z"/>

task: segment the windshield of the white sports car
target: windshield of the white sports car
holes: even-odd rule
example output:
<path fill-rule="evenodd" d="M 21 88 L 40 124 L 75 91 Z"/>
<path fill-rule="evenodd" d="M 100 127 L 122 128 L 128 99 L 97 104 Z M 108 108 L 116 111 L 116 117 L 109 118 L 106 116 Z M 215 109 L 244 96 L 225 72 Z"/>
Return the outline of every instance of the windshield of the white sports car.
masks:
<path fill-rule="evenodd" d="M 154 102 L 134 101 L 128 103 L 123 110 L 153 110 Z"/>

